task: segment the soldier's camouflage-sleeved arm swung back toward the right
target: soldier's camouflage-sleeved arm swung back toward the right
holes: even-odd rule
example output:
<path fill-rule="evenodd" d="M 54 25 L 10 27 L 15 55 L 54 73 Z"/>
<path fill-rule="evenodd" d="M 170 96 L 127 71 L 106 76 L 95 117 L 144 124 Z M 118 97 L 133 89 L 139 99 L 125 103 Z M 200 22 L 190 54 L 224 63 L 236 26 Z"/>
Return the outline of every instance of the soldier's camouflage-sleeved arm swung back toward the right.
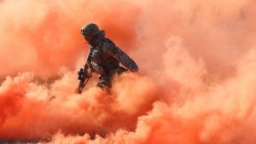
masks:
<path fill-rule="evenodd" d="M 125 66 L 131 72 L 137 72 L 138 66 L 134 60 L 132 60 L 122 49 L 119 49 L 113 43 L 104 43 L 102 47 L 102 51 L 107 54 L 113 56 L 115 59 L 119 60 L 119 62 Z"/>

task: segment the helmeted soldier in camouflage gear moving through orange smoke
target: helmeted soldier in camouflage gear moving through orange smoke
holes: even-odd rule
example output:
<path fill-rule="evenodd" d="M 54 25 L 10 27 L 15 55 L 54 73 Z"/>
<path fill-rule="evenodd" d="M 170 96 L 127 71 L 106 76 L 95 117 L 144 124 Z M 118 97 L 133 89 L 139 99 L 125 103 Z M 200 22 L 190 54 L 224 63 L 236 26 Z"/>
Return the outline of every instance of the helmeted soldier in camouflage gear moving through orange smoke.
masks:
<path fill-rule="evenodd" d="M 92 72 L 99 74 L 97 87 L 102 89 L 111 88 L 111 81 L 114 74 L 122 72 L 137 72 L 138 67 L 134 60 L 117 47 L 110 39 L 105 37 L 105 32 L 100 30 L 96 24 L 86 24 L 81 29 L 81 34 L 87 43 L 90 44 L 90 51 L 84 66 L 87 77 Z M 123 66 L 120 66 L 121 63 Z M 85 68 L 86 67 L 86 68 Z M 128 69 L 128 70 L 127 70 Z M 79 87 L 79 93 L 82 92 Z"/>

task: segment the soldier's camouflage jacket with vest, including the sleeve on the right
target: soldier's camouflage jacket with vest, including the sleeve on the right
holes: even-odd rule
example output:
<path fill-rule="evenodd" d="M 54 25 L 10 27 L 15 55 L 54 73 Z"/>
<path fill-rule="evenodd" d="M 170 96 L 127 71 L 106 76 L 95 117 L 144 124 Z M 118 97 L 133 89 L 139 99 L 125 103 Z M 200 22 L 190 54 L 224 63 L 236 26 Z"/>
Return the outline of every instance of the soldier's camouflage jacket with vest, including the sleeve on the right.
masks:
<path fill-rule="evenodd" d="M 94 72 L 99 74 L 102 74 L 101 71 L 109 72 L 112 69 L 118 68 L 119 63 L 131 72 L 138 71 L 135 61 L 108 38 L 100 37 L 96 44 L 90 46 L 87 64 Z"/>

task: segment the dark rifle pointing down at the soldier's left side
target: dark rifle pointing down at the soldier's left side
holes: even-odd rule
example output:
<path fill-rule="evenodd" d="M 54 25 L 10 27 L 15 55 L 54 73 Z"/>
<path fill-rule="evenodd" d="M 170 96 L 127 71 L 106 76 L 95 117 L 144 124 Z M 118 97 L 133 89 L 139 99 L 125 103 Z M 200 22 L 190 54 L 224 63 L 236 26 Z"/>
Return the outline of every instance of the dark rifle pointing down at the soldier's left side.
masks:
<path fill-rule="evenodd" d="M 90 76 L 87 72 L 88 70 L 88 66 L 85 64 L 84 65 L 84 69 L 83 68 L 80 68 L 79 72 L 78 72 L 78 75 L 79 75 L 79 88 L 76 89 L 76 92 L 81 94 L 83 89 L 84 89 L 84 86 L 85 84 L 87 84 Z"/>

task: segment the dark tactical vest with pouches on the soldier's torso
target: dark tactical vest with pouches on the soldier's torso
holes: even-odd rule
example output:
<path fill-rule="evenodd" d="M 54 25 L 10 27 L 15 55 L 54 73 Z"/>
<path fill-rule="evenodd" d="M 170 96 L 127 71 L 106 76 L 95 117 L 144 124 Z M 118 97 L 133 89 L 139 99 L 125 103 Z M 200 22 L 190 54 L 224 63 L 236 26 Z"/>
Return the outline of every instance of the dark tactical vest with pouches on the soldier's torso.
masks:
<path fill-rule="evenodd" d="M 96 66 L 102 66 L 102 68 L 109 72 L 119 67 L 119 60 L 116 60 L 111 55 L 106 55 L 102 52 L 104 43 L 113 43 L 110 39 L 102 37 L 95 47 L 90 47 L 90 60 L 93 68 Z M 113 43 L 115 46 L 115 44 Z"/>

